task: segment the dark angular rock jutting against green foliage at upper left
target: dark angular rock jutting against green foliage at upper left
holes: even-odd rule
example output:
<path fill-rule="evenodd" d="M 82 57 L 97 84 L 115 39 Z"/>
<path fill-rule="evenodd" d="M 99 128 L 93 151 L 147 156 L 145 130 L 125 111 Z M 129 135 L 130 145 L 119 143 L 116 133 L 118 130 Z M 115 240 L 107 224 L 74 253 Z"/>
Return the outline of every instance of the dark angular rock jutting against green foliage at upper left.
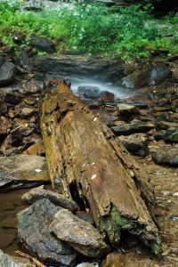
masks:
<path fill-rule="evenodd" d="M 55 52 L 55 44 L 51 40 L 42 36 L 37 36 L 34 33 L 29 36 L 28 44 L 43 52 Z"/>

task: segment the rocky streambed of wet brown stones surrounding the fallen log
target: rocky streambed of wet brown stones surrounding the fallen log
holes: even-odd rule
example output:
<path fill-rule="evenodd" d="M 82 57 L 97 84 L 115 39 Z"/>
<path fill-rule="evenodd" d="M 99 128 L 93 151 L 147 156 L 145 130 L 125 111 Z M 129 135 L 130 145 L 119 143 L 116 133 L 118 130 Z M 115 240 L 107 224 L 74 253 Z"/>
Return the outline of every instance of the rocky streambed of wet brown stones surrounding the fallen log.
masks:
<path fill-rule="evenodd" d="M 176 56 L 141 64 L 76 55 L 29 58 L 28 53 L 21 53 L 17 60 L 9 53 L 1 54 L 0 248 L 12 258 L 1 254 L 0 263 L 33 266 L 14 257 L 18 243 L 21 250 L 48 266 L 84 262 L 90 263 L 78 266 L 177 265 L 177 66 Z M 88 78 L 93 78 L 93 85 L 86 82 Z M 69 86 L 71 82 L 71 89 L 78 80 L 85 81 L 75 93 L 148 172 L 157 198 L 152 213 L 163 242 L 160 259 L 127 235 L 120 251 L 113 247 L 115 252 L 109 254 L 107 240 L 96 231 L 90 211 L 42 186 L 50 181 L 39 128 L 39 101 L 41 94 L 53 90 L 56 79 L 64 79 Z M 106 88 L 95 84 L 98 79 Z M 117 84 L 114 92 L 113 87 L 109 90 L 113 84 Z M 125 92 L 116 95 L 121 84 Z"/>

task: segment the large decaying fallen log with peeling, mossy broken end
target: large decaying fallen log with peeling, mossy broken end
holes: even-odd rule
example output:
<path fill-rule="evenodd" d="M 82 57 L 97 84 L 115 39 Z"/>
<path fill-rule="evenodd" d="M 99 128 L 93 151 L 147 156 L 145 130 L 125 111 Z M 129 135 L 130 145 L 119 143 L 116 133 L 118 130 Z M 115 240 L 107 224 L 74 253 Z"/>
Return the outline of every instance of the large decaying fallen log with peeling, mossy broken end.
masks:
<path fill-rule="evenodd" d="M 63 82 L 44 94 L 40 124 L 53 187 L 89 207 L 113 245 L 127 231 L 158 254 L 158 229 L 149 211 L 154 195 L 145 171 L 109 128 Z"/>

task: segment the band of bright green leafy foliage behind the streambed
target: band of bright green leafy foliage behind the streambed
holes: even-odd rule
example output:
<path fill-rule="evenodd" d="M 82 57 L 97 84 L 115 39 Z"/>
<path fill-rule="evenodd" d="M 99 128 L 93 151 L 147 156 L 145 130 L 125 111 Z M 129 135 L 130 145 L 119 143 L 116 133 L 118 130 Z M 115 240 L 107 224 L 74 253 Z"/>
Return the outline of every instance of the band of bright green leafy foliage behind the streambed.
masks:
<path fill-rule="evenodd" d="M 36 32 L 53 39 L 59 52 L 117 54 L 125 60 L 148 57 L 158 48 L 178 52 L 178 17 L 156 20 L 150 15 L 151 5 L 118 9 L 73 3 L 59 11 L 28 12 L 21 10 L 22 2 L 0 2 L 0 38 L 4 44 L 15 45 L 13 33 L 22 32 L 26 45 L 30 34 Z"/>

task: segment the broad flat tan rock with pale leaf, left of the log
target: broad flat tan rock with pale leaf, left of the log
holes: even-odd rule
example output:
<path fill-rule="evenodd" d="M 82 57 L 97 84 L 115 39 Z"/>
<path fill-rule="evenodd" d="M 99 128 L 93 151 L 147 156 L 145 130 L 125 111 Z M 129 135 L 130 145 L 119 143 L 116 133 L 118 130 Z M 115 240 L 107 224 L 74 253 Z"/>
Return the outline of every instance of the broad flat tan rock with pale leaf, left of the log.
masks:
<path fill-rule="evenodd" d="M 17 155 L 0 157 L 0 189 L 22 186 L 28 182 L 49 181 L 45 158 Z"/>

